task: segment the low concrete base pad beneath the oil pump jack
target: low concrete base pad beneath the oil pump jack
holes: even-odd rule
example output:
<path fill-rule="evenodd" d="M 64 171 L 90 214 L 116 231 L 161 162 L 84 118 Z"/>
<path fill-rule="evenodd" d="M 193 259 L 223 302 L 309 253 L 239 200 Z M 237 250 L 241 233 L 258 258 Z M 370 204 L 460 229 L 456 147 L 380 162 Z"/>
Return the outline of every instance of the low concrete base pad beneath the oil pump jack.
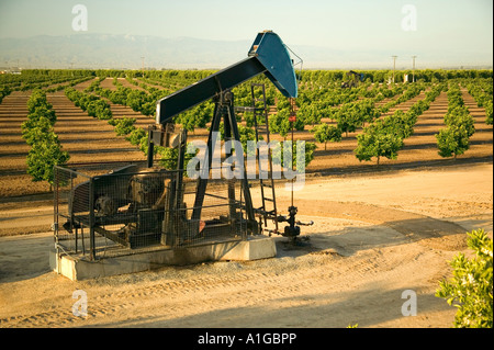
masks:
<path fill-rule="evenodd" d="M 147 271 L 162 266 L 192 264 L 218 260 L 257 260 L 277 255 L 273 238 L 249 237 L 242 241 L 213 242 L 203 246 L 157 250 L 88 261 L 64 253 L 49 253 L 50 268 L 72 281 Z"/>

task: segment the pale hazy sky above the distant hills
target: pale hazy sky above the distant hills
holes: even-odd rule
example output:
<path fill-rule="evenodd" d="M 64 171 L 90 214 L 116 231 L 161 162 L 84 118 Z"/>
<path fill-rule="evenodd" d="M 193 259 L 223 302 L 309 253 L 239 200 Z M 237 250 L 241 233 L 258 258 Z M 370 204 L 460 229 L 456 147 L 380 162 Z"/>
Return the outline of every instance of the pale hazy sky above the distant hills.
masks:
<path fill-rule="evenodd" d="M 76 4 L 88 10 L 87 32 L 72 30 Z M 0 37 L 108 33 L 251 41 L 262 30 L 273 30 L 289 46 L 470 53 L 472 61 L 492 61 L 493 1 L 0 0 Z"/>

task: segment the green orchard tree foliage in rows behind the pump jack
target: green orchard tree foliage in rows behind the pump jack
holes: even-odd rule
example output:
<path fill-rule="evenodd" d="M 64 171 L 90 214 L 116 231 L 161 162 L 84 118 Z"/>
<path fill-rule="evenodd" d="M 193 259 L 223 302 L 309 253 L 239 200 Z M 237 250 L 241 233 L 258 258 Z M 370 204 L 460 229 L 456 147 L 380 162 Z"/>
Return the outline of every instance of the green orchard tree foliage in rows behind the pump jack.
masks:
<path fill-rule="evenodd" d="M 46 86 L 48 82 L 53 84 L 55 81 L 66 81 L 72 86 L 76 81 L 81 81 L 81 79 L 92 79 L 94 76 L 98 76 L 99 78 L 91 82 L 89 88 L 85 90 L 85 93 L 67 88 L 66 94 L 76 105 L 87 111 L 88 115 L 109 120 L 115 126 L 115 132 L 122 135 L 127 134 L 127 139 L 132 144 L 138 145 L 146 153 L 146 132 L 142 128 L 135 128 L 133 125 L 124 124 L 119 125 L 119 128 L 122 128 L 122 131 L 117 131 L 117 122 L 112 121 L 111 110 L 108 103 L 98 95 L 104 97 L 113 103 L 128 105 L 134 111 L 138 111 L 145 115 L 153 115 L 156 110 L 157 100 L 203 79 L 212 72 L 214 71 L 156 70 L 147 71 L 145 78 L 133 79 L 134 77 L 141 77 L 142 72 L 139 70 L 25 70 L 22 76 L 4 75 L 0 77 L 0 101 L 10 91 L 35 89 L 33 91 L 32 104 L 29 105 L 30 114 L 23 126 L 25 139 L 32 144 L 36 139 L 41 139 L 43 134 L 53 132 L 47 121 L 49 121 L 52 126 L 56 121 L 55 113 L 47 102 L 46 105 L 40 104 L 40 101 L 46 100 L 43 90 L 40 88 Z M 428 109 L 430 102 L 441 91 L 448 91 L 449 111 L 445 116 L 445 123 L 448 127 L 447 131 L 440 132 L 436 137 L 438 138 L 438 144 L 441 144 L 439 146 L 440 154 L 456 157 L 468 149 L 468 138 L 464 135 L 471 137 L 474 133 L 473 118 L 461 98 L 460 86 L 468 88 L 469 93 L 475 99 L 478 105 L 485 109 L 485 122 L 492 124 L 492 70 L 416 70 L 416 80 L 420 82 L 412 84 L 385 83 L 391 75 L 390 70 L 369 70 L 361 72 L 366 75 L 366 82 L 361 82 L 357 88 L 341 89 L 341 81 L 347 79 L 346 71 L 303 71 L 301 74 L 299 98 L 296 99 L 299 110 L 296 122 L 293 123 L 294 129 L 303 131 L 306 124 L 312 124 L 315 126 L 313 129 L 315 139 L 324 143 L 326 149 L 327 142 L 333 140 L 333 138 L 324 136 L 322 131 L 317 132 L 319 128 L 317 124 L 321 124 L 323 118 L 332 118 L 337 122 L 340 134 L 347 133 L 347 135 L 350 132 L 357 132 L 361 126 L 366 126 L 367 124 L 377 124 L 375 127 L 381 129 L 379 134 L 388 135 L 378 137 L 380 143 L 383 142 L 383 138 L 386 138 L 384 144 L 397 145 L 400 144 L 397 139 L 401 139 L 403 145 L 403 140 L 413 135 L 413 128 L 417 117 Z M 400 79 L 401 74 L 396 72 L 396 79 Z M 100 88 L 100 82 L 105 77 L 126 78 L 128 82 L 144 90 L 137 90 L 134 87 L 124 87 L 121 80 L 117 79 L 114 79 L 116 89 L 102 89 Z M 266 83 L 268 105 L 271 108 L 276 105 L 278 108 L 278 112 L 269 118 L 271 132 L 279 133 L 282 137 L 287 138 L 292 128 L 292 124 L 288 121 L 290 114 L 289 100 L 282 97 L 266 77 L 258 76 L 254 81 Z M 430 83 L 431 81 L 435 81 L 435 83 Z M 242 83 L 234 89 L 236 105 L 251 105 L 250 82 Z M 158 90 L 154 86 L 161 86 L 164 89 Z M 87 92 L 92 92 L 93 94 Z M 419 93 L 424 93 L 425 98 L 414 103 L 406 113 L 400 111 L 393 113 L 393 115 L 383 117 L 382 121 L 379 120 L 382 113 L 388 112 L 398 103 L 417 97 Z M 255 94 L 256 98 L 260 98 L 260 90 L 255 91 Z M 382 108 L 375 108 L 375 103 L 383 99 L 390 99 L 390 101 L 383 104 Z M 213 109 L 214 104 L 211 101 L 206 101 L 177 115 L 175 122 L 182 124 L 184 128 L 193 132 L 194 128 L 204 127 L 211 121 Z M 243 116 L 247 122 L 247 126 L 252 126 L 254 120 L 251 114 L 245 113 Z M 38 123 L 37 121 L 41 120 L 43 122 Z M 258 120 L 258 122 L 259 124 L 263 123 L 263 117 Z M 336 129 L 333 129 L 333 133 L 336 133 Z M 364 133 L 371 132 L 364 131 L 362 134 Z M 377 131 L 372 133 L 377 133 Z M 337 138 L 337 136 L 335 137 Z M 243 144 L 249 138 L 251 138 L 249 132 L 245 131 Z M 325 138 L 329 140 L 325 142 Z M 157 147 L 155 147 L 155 151 Z M 396 157 L 396 153 L 392 151 L 390 156 Z"/>

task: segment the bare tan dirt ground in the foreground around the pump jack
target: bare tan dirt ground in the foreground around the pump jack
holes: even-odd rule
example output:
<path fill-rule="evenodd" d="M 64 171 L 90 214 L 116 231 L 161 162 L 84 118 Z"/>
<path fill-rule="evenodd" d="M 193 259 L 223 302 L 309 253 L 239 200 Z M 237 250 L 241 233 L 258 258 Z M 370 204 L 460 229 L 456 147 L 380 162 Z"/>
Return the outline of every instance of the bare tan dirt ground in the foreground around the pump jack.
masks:
<path fill-rule="evenodd" d="M 0 237 L 0 327 L 451 327 L 456 308 L 434 294 L 467 230 L 492 237 L 492 162 L 312 178 L 295 192 L 307 246 L 276 237 L 276 258 L 249 262 L 71 282 L 49 271 L 52 233 Z M 278 199 L 284 213 L 290 192 Z M 416 316 L 402 314 L 407 290 Z"/>

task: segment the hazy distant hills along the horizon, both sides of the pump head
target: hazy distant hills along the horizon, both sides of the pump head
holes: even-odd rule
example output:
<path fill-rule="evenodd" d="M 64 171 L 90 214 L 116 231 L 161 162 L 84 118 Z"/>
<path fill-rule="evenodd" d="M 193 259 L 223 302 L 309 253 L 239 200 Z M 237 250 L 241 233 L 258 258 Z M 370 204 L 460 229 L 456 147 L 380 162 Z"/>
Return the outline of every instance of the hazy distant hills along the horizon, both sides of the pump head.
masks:
<path fill-rule="evenodd" d="M 254 38 L 252 38 L 254 39 Z M 139 35 L 75 34 L 40 35 L 27 38 L 0 38 L 0 66 L 21 68 L 161 68 L 220 69 L 245 57 L 251 41 L 207 41 L 191 37 L 164 38 Z M 290 45 L 290 44 L 289 44 Z M 411 69 L 417 53 L 337 50 L 328 47 L 290 45 L 304 60 L 304 68 L 391 69 L 391 55 L 398 55 L 396 69 Z M 458 66 L 450 68 L 492 68 L 485 63 L 469 63 L 453 57 Z M 420 65 L 422 64 L 422 65 Z M 427 66 L 425 66 L 427 65 Z M 472 67 L 478 65 L 479 67 Z M 483 65 L 483 66 L 482 66 Z M 419 55 L 417 69 L 441 68 L 440 60 Z"/>

